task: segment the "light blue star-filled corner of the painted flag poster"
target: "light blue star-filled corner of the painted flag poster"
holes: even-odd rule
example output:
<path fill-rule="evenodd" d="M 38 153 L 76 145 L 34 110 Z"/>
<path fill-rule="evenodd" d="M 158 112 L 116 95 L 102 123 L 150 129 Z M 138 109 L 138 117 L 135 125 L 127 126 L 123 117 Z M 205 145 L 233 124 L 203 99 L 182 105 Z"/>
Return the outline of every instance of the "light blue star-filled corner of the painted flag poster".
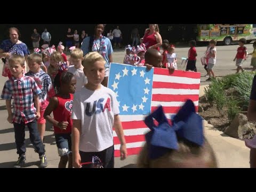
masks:
<path fill-rule="evenodd" d="M 120 115 L 147 115 L 151 111 L 154 68 L 111 63 L 108 87 L 116 93 Z"/>

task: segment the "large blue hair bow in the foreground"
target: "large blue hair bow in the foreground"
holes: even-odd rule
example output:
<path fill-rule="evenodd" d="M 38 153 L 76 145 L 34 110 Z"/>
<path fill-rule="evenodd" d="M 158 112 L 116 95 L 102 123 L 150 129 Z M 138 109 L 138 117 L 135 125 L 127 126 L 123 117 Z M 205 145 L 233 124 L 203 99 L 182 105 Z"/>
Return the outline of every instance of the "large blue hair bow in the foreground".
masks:
<path fill-rule="evenodd" d="M 159 123 L 158 126 L 154 124 L 153 118 Z M 162 106 L 145 118 L 145 124 L 151 130 L 145 135 L 150 159 L 161 157 L 170 149 L 177 150 L 178 138 L 198 146 L 203 145 L 203 119 L 196 114 L 193 101 L 186 101 L 174 116 L 172 123 L 172 126 L 168 123 Z"/>

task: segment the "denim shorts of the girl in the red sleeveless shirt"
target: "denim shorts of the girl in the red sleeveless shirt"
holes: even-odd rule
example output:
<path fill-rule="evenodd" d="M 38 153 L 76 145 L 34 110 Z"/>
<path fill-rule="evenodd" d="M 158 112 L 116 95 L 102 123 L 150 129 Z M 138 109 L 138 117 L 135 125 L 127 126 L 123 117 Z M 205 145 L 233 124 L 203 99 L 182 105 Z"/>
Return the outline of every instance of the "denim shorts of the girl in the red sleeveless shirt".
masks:
<path fill-rule="evenodd" d="M 71 133 L 55 133 L 54 135 L 59 156 L 71 153 Z"/>

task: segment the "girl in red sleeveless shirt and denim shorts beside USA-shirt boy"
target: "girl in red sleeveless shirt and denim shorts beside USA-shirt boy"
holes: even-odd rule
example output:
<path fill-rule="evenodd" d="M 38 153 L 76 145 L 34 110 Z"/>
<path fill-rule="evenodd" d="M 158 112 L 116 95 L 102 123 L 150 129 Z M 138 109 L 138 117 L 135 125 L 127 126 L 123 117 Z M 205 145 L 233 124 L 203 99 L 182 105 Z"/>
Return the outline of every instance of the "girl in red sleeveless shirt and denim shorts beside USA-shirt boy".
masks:
<path fill-rule="evenodd" d="M 61 72 L 60 72 L 61 73 Z M 53 124 L 56 145 L 60 156 L 59 168 L 72 168 L 71 127 L 73 94 L 76 91 L 76 78 L 68 71 L 63 71 L 54 78 L 57 94 L 50 99 L 44 111 L 44 118 Z M 53 118 L 50 114 L 53 112 Z"/>

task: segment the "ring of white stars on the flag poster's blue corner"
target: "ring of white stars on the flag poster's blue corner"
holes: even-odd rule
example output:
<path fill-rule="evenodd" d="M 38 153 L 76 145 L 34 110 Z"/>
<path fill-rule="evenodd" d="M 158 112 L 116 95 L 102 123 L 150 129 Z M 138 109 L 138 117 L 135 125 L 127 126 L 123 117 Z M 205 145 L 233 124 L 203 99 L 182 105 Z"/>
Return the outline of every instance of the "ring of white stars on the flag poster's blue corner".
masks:
<path fill-rule="evenodd" d="M 118 81 L 120 81 L 120 78 L 121 77 L 124 77 L 124 76 L 128 76 L 128 73 L 129 73 L 129 71 L 130 70 L 127 70 L 126 69 L 126 67 L 122 70 L 123 71 L 123 76 L 120 74 L 120 73 L 118 73 L 118 74 L 115 74 L 115 81 L 114 81 L 114 83 L 113 83 L 113 85 L 111 85 L 112 87 L 113 87 L 113 90 L 115 91 L 116 89 L 118 89 L 118 84 L 119 84 L 119 82 L 116 82 L 117 80 Z M 137 69 L 135 69 L 135 68 L 133 68 L 133 70 L 131 70 L 131 73 L 132 73 L 132 76 L 134 76 L 134 75 L 137 75 Z M 140 70 L 139 71 L 139 73 L 140 73 L 140 77 L 142 77 L 142 78 L 144 78 L 144 75 L 146 74 L 143 70 Z M 138 74 L 139 75 L 139 74 Z M 150 80 L 151 79 L 149 79 L 148 77 L 146 77 L 146 79 L 144 79 L 144 81 L 145 81 L 145 85 L 147 85 L 147 84 L 149 84 L 150 85 Z M 132 112 L 134 113 L 135 111 L 137 111 L 137 107 L 139 107 L 139 109 L 141 109 L 141 110 L 143 110 L 143 108 L 145 107 L 145 106 L 143 106 L 143 103 L 145 102 L 147 102 L 147 100 L 148 100 L 148 98 L 146 97 L 146 94 L 148 94 L 149 95 L 149 89 L 148 89 L 148 87 L 146 87 L 146 89 L 143 89 L 144 90 L 144 97 L 142 97 L 141 99 L 142 99 L 142 102 L 141 102 L 141 104 L 140 105 L 134 105 L 133 104 L 133 106 L 132 107 L 130 107 L 130 106 L 126 106 L 126 103 L 122 106 L 122 108 L 123 108 L 123 111 L 126 111 L 126 112 L 128 112 L 128 109 L 129 108 L 131 108 L 132 109 Z M 118 95 L 118 91 L 116 91 L 115 92 L 115 95 L 116 95 L 116 97 L 119 97 L 119 95 Z M 118 102 L 118 107 L 120 107 L 120 101 L 117 101 Z"/>

